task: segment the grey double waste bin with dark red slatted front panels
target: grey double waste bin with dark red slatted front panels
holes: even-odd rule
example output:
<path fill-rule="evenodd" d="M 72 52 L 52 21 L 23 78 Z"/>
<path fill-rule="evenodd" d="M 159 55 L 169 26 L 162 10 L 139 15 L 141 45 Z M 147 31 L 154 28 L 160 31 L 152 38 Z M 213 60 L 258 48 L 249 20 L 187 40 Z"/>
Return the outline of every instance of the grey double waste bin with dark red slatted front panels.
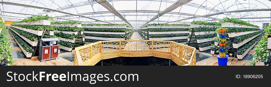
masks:
<path fill-rule="evenodd" d="M 39 43 L 38 59 L 46 60 L 58 59 L 59 54 L 58 38 L 41 38 Z"/>

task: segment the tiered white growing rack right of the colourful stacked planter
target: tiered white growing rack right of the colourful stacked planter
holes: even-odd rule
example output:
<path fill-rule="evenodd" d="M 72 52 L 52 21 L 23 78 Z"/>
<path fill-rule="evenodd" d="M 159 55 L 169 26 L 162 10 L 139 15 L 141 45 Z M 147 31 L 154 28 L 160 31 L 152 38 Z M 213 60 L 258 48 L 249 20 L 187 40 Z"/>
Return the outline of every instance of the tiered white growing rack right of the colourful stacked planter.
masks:
<path fill-rule="evenodd" d="M 239 20 L 241 21 L 241 20 Z M 243 59 L 253 46 L 261 39 L 262 32 L 259 27 L 230 22 L 222 23 L 222 27 L 228 28 L 227 41 L 230 43 L 229 53 L 236 54 L 234 57 Z M 217 45 L 217 43 L 215 43 Z"/>

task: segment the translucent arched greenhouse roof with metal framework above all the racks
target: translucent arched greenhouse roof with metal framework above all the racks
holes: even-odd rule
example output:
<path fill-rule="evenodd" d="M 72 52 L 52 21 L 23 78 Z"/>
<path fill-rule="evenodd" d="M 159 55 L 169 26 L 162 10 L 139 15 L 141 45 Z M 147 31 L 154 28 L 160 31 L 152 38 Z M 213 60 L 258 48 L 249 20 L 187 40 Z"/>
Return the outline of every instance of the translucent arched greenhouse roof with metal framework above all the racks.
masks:
<path fill-rule="evenodd" d="M 224 17 L 260 27 L 271 21 L 269 0 L 3 0 L 0 3 L 3 3 L 0 6 L 3 20 L 10 21 L 46 14 L 54 20 L 128 24 L 135 28 L 152 23 L 219 21 Z"/>

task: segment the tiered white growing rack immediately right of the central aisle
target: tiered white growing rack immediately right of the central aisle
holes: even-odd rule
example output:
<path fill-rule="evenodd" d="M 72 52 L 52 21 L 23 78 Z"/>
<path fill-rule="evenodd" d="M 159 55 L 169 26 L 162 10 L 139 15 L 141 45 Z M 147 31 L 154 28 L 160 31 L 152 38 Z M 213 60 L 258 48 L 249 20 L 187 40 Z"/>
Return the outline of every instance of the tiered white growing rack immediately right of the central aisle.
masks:
<path fill-rule="evenodd" d="M 187 24 L 147 24 L 139 32 L 147 40 L 174 41 L 181 44 L 187 42 L 189 34 Z"/>

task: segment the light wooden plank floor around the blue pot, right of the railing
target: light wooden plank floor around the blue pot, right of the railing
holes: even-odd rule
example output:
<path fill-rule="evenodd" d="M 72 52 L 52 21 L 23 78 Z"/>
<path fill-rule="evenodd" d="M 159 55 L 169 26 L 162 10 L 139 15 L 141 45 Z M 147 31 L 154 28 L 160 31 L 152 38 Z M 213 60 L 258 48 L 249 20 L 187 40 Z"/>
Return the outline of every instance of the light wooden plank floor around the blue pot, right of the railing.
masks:
<path fill-rule="evenodd" d="M 228 66 L 247 66 L 250 62 L 249 60 L 237 60 L 237 59 L 232 59 L 232 60 L 233 61 L 231 63 L 229 63 L 229 60 L 228 60 L 228 64 L 227 64 Z M 218 66 L 217 57 L 212 56 L 208 59 L 197 62 L 196 65 L 197 66 Z"/>

